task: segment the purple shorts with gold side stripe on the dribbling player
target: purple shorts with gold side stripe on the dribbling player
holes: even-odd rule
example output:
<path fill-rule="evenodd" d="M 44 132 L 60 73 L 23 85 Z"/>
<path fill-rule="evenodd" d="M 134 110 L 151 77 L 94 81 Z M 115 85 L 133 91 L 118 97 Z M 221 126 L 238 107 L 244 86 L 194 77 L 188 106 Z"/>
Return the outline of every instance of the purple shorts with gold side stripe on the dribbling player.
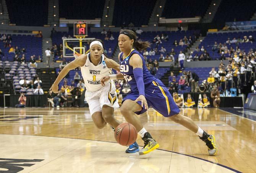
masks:
<path fill-rule="evenodd" d="M 131 91 L 125 98 L 125 100 L 136 100 L 139 97 L 138 92 Z M 172 95 L 165 87 L 165 85 L 159 79 L 151 82 L 151 84 L 145 86 L 145 98 L 147 105 L 152 106 L 157 112 L 162 114 L 164 117 L 169 117 L 180 112 L 180 109 L 174 102 Z M 137 102 L 141 105 L 141 101 Z M 136 114 L 142 114 L 146 112 L 144 106 L 141 111 L 135 112 Z"/>

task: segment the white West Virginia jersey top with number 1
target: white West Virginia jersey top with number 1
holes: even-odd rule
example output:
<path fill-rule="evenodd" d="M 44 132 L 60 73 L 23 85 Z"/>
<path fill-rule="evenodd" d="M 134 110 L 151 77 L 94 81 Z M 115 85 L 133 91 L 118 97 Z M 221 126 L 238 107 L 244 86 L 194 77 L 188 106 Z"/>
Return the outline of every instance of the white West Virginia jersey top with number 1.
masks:
<path fill-rule="evenodd" d="M 91 62 L 90 53 L 88 53 L 84 66 L 80 68 L 84 79 L 84 85 L 86 90 L 89 92 L 100 90 L 102 88 L 100 79 L 104 76 L 111 75 L 112 73 L 112 69 L 107 67 L 104 58 L 105 56 L 102 54 L 99 64 L 95 66 Z M 105 82 L 105 85 L 107 85 L 109 82 L 110 80 Z"/>

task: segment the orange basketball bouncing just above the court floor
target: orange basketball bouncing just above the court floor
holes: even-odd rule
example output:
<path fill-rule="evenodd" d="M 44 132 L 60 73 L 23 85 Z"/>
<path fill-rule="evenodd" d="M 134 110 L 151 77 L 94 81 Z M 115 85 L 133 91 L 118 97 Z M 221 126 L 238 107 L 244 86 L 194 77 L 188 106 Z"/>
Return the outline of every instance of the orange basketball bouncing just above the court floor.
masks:
<path fill-rule="evenodd" d="M 122 123 L 115 129 L 115 140 L 123 146 L 133 144 L 137 139 L 137 130 L 132 124 Z"/>

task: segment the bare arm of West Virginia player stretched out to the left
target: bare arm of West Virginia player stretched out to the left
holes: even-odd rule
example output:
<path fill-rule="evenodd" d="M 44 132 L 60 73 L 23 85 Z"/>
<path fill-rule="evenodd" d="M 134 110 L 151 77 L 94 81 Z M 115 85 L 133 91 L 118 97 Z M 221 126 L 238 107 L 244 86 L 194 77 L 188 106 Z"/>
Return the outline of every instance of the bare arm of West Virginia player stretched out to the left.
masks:
<path fill-rule="evenodd" d="M 81 67 L 85 64 L 87 59 L 87 55 L 81 55 L 77 57 L 75 60 L 68 63 L 62 71 L 60 71 L 60 74 L 58 75 L 57 79 L 52 84 L 52 87 L 50 87 L 50 90 L 52 90 L 54 93 L 58 93 L 58 84 L 60 81 L 68 74 L 70 70 L 73 70 L 77 67 Z"/>

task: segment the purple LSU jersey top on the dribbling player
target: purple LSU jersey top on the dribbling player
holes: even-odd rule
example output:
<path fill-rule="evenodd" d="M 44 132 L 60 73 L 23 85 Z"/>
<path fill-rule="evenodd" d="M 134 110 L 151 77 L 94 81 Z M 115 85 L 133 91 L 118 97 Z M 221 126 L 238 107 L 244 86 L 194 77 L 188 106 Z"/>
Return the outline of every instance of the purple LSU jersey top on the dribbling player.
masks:
<path fill-rule="evenodd" d="M 135 49 L 131 49 L 130 54 L 123 59 L 123 52 L 120 54 L 120 72 L 125 76 L 125 80 L 130 84 L 131 90 L 134 92 L 138 92 L 137 83 L 133 75 L 133 67 L 129 64 L 130 57 L 133 54 L 138 54 L 141 57 L 143 62 L 143 81 L 144 85 L 147 86 L 152 83 L 152 81 L 156 80 L 156 78 L 149 73 L 146 67 L 146 62 L 143 56 L 136 51 Z"/>

